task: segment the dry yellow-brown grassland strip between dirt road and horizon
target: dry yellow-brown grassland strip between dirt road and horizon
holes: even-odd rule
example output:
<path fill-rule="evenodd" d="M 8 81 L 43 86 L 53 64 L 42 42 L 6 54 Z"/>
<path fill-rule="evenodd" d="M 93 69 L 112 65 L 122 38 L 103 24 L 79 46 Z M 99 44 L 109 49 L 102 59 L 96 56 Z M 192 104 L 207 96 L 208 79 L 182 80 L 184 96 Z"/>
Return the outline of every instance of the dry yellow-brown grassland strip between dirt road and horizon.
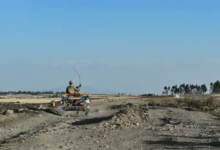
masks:
<path fill-rule="evenodd" d="M 114 102 L 114 101 L 139 101 L 141 100 L 148 106 L 176 107 L 187 110 L 206 111 L 220 116 L 220 97 L 219 95 L 197 95 L 175 98 L 171 96 L 131 96 L 131 95 L 90 95 L 92 102 Z M 50 105 L 54 101 L 59 105 L 60 97 L 51 98 L 50 95 L 8 95 L 0 99 L 0 114 L 7 110 L 19 109 L 26 110 L 29 106 L 38 109 L 39 105 Z M 48 107 L 50 107 L 48 105 Z M 45 106 L 44 106 L 45 107 Z M 46 108 L 46 107 L 45 107 Z M 5 118 L 5 116 L 4 116 Z"/>

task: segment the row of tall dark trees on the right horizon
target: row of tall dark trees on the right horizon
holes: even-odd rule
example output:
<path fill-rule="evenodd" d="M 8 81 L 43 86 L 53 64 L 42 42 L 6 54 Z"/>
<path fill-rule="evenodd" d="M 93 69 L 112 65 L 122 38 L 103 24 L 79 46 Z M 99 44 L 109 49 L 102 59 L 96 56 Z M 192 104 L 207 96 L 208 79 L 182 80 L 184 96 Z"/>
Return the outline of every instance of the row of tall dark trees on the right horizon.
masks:
<path fill-rule="evenodd" d="M 212 94 L 220 93 L 220 81 L 216 81 L 214 83 L 210 83 L 209 91 Z M 194 85 L 194 84 L 181 84 L 179 86 L 165 86 L 163 95 L 189 95 L 189 94 L 204 94 L 208 91 L 207 86 L 205 84 L 202 85 Z"/>

